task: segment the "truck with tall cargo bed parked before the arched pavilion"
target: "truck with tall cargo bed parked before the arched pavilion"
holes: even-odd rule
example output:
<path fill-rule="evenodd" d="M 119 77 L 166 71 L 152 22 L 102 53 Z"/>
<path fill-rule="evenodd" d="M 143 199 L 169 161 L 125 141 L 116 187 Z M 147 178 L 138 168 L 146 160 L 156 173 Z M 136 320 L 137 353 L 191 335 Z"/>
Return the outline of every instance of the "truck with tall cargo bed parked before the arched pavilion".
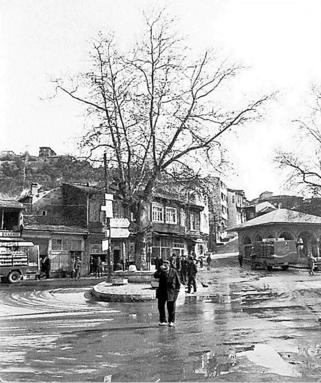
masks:
<path fill-rule="evenodd" d="M 264 267 L 272 271 L 273 267 L 287 270 L 291 264 L 298 262 L 296 241 L 279 239 L 263 239 L 254 242 L 251 254 L 252 268 Z"/>

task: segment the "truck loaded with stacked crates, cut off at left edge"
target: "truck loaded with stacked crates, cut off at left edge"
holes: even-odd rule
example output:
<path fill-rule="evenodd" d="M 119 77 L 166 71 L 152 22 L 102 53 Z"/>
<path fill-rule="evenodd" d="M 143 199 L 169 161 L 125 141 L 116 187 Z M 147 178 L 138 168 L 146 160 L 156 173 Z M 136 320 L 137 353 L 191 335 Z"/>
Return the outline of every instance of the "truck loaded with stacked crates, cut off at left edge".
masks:
<path fill-rule="evenodd" d="M 40 279 L 39 246 L 22 239 L 0 240 L 0 279 L 18 283 L 21 279 Z"/>

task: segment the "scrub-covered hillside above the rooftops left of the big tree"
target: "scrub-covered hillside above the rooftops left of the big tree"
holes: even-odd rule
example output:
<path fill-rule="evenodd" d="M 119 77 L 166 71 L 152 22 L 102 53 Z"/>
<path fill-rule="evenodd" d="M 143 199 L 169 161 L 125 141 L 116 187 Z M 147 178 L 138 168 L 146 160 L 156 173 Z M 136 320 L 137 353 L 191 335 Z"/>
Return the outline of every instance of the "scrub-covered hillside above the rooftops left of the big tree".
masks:
<path fill-rule="evenodd" d="M 87 161 L 73 157 L 34 157 L 28 153 L 13 152 L 0 154 L 0 198 L 16 198 L 32 182 L 50 189 L 62 182 L 98 182 L 104 180 L 103 167 L 94 168 Z"/>

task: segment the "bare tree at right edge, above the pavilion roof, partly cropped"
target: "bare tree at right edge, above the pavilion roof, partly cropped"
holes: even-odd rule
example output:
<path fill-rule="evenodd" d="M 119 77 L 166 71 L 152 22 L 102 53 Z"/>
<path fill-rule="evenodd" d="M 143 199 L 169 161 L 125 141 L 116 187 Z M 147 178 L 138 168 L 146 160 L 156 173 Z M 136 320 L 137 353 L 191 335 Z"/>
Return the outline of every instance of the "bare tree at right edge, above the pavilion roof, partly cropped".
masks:
<path fill-rule="evenodd" d="M 289 188 L 321 196 L 321 86 L 311 86 L 307 115 L 292 122 L 299 129 L 300 144 L 295 152 L 279 149 L 275 162 L 287 174 Z"/>

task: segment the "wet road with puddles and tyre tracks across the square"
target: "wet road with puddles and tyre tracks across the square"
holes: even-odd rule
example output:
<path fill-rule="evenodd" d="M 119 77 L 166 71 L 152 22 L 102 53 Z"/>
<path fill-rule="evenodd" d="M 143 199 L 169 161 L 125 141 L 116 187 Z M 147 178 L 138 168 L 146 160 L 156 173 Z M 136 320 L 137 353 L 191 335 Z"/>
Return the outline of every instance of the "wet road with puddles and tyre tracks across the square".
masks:
<path fill-rule="evenodd" d="M 94 301 L 90 286 L 0 285 L 0 379 L 319 381 L 321 274 L 218 268 L 158 326 L 156 302 Z"/>

